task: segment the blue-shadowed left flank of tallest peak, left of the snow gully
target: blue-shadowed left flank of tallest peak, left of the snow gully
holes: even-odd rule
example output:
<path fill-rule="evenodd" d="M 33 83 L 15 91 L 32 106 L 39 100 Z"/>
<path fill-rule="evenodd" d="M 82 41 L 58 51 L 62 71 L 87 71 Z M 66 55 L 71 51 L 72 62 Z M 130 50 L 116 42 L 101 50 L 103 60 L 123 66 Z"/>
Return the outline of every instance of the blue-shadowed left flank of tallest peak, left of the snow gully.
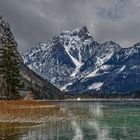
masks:
<path fill-rule="evenodd" d="M 64 47 L 58 43 L 57 40 L 49 42 L 46 46 L 44 45 L 43 49 L 40 47 L 41 44 L 39 43 L 37 47 L 34 47 L 33 50 L 29 50 L 23 55 L 25 64 L 43 78 L 49 79 L 51 83 L 58 87 L 62 86 L 63 82 L 69 82 L 67 75 L 72 73 L 75 69 L 75 65 L 65 52 Z M 63 77 L 65 77 L 65 79 L 63 79 Z M 59 83 L 57 83 L 56 80 L 58 80 Z"/>

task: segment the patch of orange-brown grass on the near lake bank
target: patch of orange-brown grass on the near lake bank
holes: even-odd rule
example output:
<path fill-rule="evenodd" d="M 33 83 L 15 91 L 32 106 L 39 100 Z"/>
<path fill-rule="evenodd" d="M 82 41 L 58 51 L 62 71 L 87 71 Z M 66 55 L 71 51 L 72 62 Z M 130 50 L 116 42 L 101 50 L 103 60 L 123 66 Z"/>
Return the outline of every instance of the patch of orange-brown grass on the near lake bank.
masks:
<path fill-rule="evenodd" d="M 0 101 L 0 122 L 41 122 L 61 116 L 60 107 L 39 101 Z"/>

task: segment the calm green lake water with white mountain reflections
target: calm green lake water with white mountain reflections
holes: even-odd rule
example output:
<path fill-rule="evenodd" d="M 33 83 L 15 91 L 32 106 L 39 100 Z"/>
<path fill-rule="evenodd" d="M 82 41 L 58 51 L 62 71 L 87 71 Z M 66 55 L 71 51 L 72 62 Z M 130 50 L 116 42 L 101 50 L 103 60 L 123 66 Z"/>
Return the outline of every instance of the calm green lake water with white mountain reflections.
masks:
<path fill-rule="evenodd" d="M 61 103 L 64 117 L 41 124 L 0 124 L 6 140 L 140 140 L 140 103 Z"/>

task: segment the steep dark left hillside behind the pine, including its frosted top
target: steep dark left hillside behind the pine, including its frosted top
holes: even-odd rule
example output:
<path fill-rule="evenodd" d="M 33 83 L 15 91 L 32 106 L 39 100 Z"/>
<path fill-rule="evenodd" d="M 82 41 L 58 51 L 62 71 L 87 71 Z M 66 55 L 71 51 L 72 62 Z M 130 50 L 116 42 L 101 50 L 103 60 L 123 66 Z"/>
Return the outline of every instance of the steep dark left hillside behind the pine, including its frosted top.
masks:
<path fill-rule="evenodd" d="M 6 20 L 0 16 L 0 47 L 1 39 L 6 36 L 8 38 L 14 39 L 14 36 L 10 30 L 10 25 Z M 16 42 L 16 41 L 15 41 Z M 17 49 L 15 50 L 17 53 Z M 64 93 L 58 88 L 53 86 L 47 79 L 42 78 L 34 71 L 30 70 L 24 63 L 21 55 L 20 57 L 20 74 L 22 87 L 20 90 L 32 90 L 38 99 L 60 99 L 64 98 Z M 0 84 L 0 89 L 2 91 L 3 86 Z"/>

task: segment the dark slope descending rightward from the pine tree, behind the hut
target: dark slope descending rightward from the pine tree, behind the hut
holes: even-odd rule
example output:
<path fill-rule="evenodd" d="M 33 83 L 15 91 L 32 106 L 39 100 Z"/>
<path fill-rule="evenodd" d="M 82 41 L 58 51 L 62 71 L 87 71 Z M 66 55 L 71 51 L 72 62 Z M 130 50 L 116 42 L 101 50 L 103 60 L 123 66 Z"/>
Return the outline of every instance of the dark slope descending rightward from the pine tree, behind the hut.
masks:
<path fill-rule="evenodd" d="M 24 63 L 20 64 L 20 73 L 23 86 L 22 91 L 32 90 L 37 99 L 63 99 L 65 93 L 51 84 L 47 79 L 42 78 Z"/>

